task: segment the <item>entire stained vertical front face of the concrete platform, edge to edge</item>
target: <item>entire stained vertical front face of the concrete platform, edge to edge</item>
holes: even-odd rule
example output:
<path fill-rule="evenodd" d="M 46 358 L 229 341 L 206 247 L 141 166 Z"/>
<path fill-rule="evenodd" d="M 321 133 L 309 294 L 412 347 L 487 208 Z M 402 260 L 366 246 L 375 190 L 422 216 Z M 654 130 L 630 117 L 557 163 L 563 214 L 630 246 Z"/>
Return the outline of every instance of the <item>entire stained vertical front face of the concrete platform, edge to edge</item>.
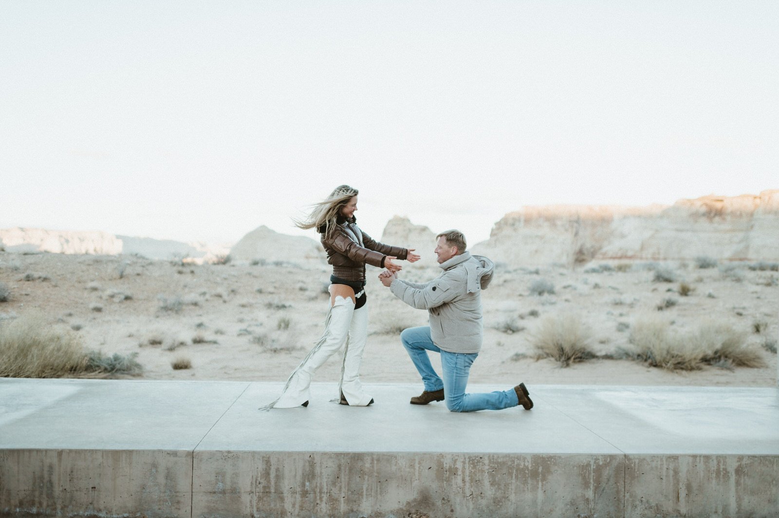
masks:
<path fill-rule="evenodd" d="M 0 451 L 3 517 L 774 518 L 777 509 L 779 456 L 766 455 Z"/>

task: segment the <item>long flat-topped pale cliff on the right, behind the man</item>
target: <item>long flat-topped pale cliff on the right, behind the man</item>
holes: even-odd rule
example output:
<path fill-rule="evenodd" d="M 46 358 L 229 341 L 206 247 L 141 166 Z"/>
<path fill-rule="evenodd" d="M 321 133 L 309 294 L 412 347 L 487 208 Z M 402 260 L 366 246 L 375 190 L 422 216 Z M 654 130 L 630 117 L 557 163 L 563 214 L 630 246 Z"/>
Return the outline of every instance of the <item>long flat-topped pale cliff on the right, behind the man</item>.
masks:
<path fill-rule="evenodd" d="M 777 261 L 779 190 L 642 208 L 526 207 L 497 222 L 474 252 L 512 265 L 699 256 Z"/>

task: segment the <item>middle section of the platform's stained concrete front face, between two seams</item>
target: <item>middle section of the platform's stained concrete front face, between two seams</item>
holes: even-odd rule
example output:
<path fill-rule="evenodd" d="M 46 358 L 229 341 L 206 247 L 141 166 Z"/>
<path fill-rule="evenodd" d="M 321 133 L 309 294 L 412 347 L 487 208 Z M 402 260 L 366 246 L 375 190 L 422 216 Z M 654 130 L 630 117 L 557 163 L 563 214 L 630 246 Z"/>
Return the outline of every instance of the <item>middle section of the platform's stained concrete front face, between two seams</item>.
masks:
<path fill-rule="evenodd" d="M 621 456 L 203 452 L 195 471 L 207 518 L 622 518 Z"/>

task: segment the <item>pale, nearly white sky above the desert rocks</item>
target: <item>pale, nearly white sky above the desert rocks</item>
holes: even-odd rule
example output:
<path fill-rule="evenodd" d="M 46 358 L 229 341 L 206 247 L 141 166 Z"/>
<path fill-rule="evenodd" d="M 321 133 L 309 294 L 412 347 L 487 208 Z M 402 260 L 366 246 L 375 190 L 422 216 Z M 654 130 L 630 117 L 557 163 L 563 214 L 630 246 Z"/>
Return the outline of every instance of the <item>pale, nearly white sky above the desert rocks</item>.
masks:
<path fill-rule="evenodd" d="M 779 188 L 779 2 L 0 0 L 0 228 L 231 243 L 339 184 L 523 205 Z M 403 245 L 404 243 L 393 243 Z"/>

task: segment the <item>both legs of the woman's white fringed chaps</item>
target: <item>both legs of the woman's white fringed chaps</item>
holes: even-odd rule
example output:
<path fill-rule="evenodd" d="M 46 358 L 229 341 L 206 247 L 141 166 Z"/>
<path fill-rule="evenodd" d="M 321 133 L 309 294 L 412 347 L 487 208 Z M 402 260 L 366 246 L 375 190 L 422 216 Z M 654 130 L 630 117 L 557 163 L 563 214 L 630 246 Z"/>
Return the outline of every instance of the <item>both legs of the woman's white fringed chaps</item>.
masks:
<path fill-rule="evenodd" d="M 311 397 L 311 380 L 330 356 L 343 351 L 338 387 L 350 406 L 367 406 L 372 397 L 365 394 L 360 383 L 360 365 L 368 339 L 368 307 L 354 309 L 351 297 L 337 296 L 327 313 L 325 331 L 297 369 L 287 380 L 280 397 L 260 410 L 294 408 Z M 339 398 L 334 401 L 340 401 Z"/>

